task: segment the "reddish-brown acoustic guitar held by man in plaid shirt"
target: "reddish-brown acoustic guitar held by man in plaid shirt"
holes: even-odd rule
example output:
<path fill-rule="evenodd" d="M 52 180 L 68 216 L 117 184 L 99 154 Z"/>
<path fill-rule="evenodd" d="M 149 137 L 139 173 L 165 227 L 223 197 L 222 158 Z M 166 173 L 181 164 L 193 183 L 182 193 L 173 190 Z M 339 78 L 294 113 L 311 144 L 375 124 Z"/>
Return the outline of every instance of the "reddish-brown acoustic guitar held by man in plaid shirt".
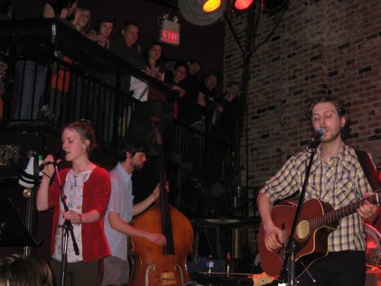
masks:
<path fill-rule="evenodd" d="M 378 204 L 380 193 L 377 192 L 368 198 L 336 210 L 329 203 L 318 199 L 311 199 L 304 203 L 295 230 L 296 277 L 302 275 L 314 261 L 328 254 L 328 235 L 337 229 L 339 219 L 356 213 L 365 200 Z M 274 206 L 272 209 L 274 225 L 283 230 L 283 244 L 287 244 L 285 240 L 290 236 L 295 212 L 294 206 Z M 279 276 L 283 266 L 284 247 L 273 252 L 265 248 L 265 230 L 262 223 L 259 227 L 258 248 L 264 271 L 270 276 Z"/>

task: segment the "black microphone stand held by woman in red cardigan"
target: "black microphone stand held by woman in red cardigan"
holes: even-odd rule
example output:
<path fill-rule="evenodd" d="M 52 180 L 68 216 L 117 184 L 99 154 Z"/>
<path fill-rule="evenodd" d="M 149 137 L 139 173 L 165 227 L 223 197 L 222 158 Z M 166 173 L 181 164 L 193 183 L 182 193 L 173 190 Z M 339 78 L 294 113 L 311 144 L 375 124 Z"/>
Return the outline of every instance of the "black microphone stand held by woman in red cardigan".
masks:
<path fill-rule="evenodd" d="M 66 196 L 63 192 L 63 187 L 60 181 L 60 173 L 58 171 L 57 164 L 54 164 L 54 171 L 57 176 L 58 185 L 60 187 L 60 202 L 63 205 L 63 209 L 69 211 L 68 205 L 66 204 Z M 71 236 L 71 241 L 73 242 L 74 253 L 79 255 L 79 248 L 74 236 L 73 225 L 70 220 L 65 219 L 63 225 L 59 226 L 62 228 L 62 244 L 61 244 L 61 259 L 60 259 L 60 285 L 65 286 L 66 279 L 66 267 L 68 263 L 68 241 L 69 234 Z"/>

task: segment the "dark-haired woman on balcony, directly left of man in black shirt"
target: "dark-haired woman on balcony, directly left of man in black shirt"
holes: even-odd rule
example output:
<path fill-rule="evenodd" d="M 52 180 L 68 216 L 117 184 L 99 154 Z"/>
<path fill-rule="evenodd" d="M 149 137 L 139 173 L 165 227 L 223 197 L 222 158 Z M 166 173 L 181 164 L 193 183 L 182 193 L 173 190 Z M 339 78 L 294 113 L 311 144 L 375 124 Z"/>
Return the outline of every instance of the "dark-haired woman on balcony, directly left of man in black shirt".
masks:
<path fill-rule="evenodd" d="M 101 14 L 98 17 L 98 23 L 95 30 L 88 32 L 88 39 L 98 44 L 105 49 L 111 46 L 111 37 L 114 34 L 115 18 L 111 14 Z"/>

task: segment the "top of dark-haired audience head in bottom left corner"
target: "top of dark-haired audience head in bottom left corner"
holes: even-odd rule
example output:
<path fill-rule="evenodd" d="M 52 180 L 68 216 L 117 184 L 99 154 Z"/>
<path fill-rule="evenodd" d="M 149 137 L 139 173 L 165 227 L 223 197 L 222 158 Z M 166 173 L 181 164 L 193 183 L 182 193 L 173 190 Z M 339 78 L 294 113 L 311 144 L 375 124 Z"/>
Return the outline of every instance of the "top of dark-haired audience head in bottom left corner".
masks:
<path fill-rule="evenodd" d="M 48 263 L 37 256 L 13 254 L 0 260 L 0 286 L 52 286 Z"/>

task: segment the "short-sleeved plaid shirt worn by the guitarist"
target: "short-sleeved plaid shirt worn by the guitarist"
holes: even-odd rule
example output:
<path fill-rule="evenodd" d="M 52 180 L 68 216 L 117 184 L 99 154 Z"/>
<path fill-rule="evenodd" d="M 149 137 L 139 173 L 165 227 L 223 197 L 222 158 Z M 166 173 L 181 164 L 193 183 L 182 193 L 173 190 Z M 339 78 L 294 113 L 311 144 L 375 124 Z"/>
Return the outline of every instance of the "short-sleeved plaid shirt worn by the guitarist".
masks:
<path fill-rule="evenodd" d="M 302 190 L 309 155 L 310 152 L 304 151 L 291 157 L 260 192 L 265 193 L 274 203 L 278 198 L 286 198 Z M 337 209 L 364 198 L 365 192 L 373 191 L 353 148 L 342 143 L 338 157 L 332 158 L 329 163 L 322 161 L 321 148 L 318 148 L 312 162 L 305 201 L 317 198 Z M 365 249 L 361 217 L 355 213 L 342 218 L 338 230 L 329 236 L 329 250 L 338 252 Z"/>

